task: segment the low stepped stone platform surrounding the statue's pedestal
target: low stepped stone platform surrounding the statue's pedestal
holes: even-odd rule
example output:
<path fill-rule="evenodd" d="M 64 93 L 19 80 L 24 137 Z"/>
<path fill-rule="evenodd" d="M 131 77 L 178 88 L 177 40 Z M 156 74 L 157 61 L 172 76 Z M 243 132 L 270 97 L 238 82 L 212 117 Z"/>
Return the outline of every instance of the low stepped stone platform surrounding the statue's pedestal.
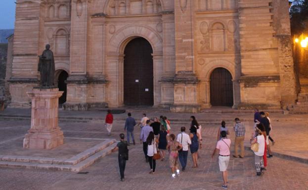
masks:
<path fill-rule="evenodd" d="M 67 137 L 53 150 L 28 150 L 20 139 L 1 144 L 0 167 L 47 169 L 79 172 L 111 153 L 114 139 Z"/>

